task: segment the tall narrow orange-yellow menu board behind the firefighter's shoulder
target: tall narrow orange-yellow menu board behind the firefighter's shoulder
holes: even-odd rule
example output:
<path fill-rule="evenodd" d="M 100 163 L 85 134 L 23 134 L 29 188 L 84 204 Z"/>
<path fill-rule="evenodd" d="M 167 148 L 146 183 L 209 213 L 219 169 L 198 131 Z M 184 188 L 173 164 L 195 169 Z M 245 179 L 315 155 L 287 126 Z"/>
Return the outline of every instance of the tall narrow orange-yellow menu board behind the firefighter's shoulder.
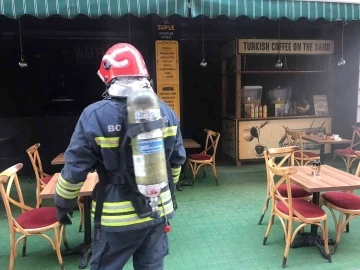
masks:
<path fill-rule="evenodd" d="M 155 51 L 157 95 L 180 119 L 179 44 L 175 40 L 157 40 Z"/>

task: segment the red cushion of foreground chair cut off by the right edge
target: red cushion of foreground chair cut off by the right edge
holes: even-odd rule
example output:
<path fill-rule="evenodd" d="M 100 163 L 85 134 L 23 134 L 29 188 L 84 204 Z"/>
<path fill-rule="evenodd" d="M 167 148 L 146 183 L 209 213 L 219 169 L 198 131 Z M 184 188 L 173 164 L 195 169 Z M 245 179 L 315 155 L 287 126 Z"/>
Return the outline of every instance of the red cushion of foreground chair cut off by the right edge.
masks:
<path fill-rule="evenodd" d="M 346 192 L 325 192 L 322 197 L 337 207 L 360 210 L 360 197 Z"/>

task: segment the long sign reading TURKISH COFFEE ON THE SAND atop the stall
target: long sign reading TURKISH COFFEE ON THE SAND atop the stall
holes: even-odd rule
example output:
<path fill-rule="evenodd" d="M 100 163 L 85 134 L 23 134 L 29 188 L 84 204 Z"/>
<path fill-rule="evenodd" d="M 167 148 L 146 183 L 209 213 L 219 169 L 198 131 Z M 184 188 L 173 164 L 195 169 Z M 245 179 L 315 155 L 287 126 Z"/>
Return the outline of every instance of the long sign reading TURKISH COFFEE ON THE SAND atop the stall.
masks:
<path fill-rule="evenodd" d="M 239 54 L 334 54 L 333 40 L 239 39 Z"/>

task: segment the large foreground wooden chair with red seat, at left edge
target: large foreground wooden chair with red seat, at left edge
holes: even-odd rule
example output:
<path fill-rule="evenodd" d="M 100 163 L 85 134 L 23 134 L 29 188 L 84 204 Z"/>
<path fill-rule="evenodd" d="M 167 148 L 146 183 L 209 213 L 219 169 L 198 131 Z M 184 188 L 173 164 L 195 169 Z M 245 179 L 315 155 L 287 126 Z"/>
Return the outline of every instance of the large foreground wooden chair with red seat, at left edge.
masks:
<path fill-rule="evenodd" d="M 17 256 L 17 247 L 21 240 L 23 240 L 22 256 L 26 254 L 26 240 L 27 237 L 38 235 L 48 240 L 52 248 L 56 251 L 61 269 L 64 269 L 63 260 L 61 257 L 60 247 L 63 238 L 66 249 L 69 246 L 66 241 L 65 226 L 61 225 L 56 218 L 56 207 L 42 207 L 31 208 L 24 204 L 20 182 L 17 172 L 23 167 L 23 164 L 18 163 L 15 166 L 0 173 L 0 193 L 4 201 L 5 210 L 8 218 L 10 228 L 10 263 L 9 270 L 14 269 L 14 260 Z M 15 185 L 18 200 L 13 199 L 11 188 Z M 14 217 L 11 206 L 16 206 L 21 209 L 21 214 Z M 44 234 L 47 231 L 53 230 L 54 241 L 49 236 Z M 60 232 L 59 232 L 60 230 Z M 15 241 L 16 234 L 21 236 Z"/>

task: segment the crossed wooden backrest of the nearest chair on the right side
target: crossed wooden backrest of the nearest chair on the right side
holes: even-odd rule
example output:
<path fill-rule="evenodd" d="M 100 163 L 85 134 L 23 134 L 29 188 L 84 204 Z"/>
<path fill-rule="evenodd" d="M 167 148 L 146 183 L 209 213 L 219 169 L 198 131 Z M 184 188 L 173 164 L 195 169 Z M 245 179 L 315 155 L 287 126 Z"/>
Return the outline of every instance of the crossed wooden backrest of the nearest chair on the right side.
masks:
<path fill-rule="evenodd" d="M 280 180 L 276 183 L 274 180 L 271 181 L 271 199 L 272 203 L 275 204 L 276 201 L 281 201 L 288 209 L 289 209 L 289 217 L 293 218 L 295 215 L 304 223 L 309 223 L 310 221 L 306 219 L 303 215 L 301 215 L 298 211 L 293 208 L 292 201 L 292 192 L 291 192 L 291 180 L 290 175 L 295 174 L 297 171 L 294 167 L 278 167 L 274 163 L 275 158 L 271 158 L 267 160 L 267 166 L 271 173 L 276 176 L 280 176 Z M 287 197 L 281 196 L 279 192 L 279 187 L 282 184 L 286 184 L 287 189 Z"/>

